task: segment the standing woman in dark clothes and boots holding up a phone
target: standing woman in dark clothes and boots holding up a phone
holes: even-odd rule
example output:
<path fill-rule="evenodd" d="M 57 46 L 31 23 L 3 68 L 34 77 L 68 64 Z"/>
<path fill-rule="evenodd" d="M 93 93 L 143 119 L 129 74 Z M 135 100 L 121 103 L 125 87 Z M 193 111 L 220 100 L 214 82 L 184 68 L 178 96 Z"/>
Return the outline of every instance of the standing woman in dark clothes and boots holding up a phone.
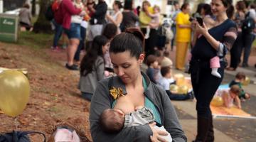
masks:
<path fill-rule="evenodd" d="M 225 54 L 232 48 L 238 34 L 234 21 L 230 19 L 234 12 L 232 0 L 212 0 L 210 8 L 216 17 L 215 24 L 213 28 L 208 29 L 205 23 L 203 26 L 196 23 L 195 37 L 197 38 L 191 50 L 189 72 L 197 100 L 198 120 L 195 141 L 214 141 L 210 101 L 223 80 Z M 210 70 L 210 59 L 217 55 L 220 57 L 218 68 L 220 78 L 211 75 Z"/>

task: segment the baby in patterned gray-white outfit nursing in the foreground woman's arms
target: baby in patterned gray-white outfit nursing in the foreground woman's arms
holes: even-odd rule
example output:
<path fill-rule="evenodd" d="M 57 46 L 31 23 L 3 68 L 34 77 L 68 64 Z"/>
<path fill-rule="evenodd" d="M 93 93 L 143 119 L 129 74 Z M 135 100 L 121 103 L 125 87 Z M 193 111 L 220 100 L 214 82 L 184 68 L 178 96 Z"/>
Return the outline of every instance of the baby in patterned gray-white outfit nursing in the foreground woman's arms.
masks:
<path fill-rule="evenodd" d="M 139 126 L 151 124 L 154 122 L 154 114 L 146 107 L 137 107 L 136 111 L 130 114 L 124 114 L 120 109 L 106 109 L 100 115 L 100 125 L 103 131 L 115 133 L 123 128 L 131 126 Z M 166 131 L 164 126 L 154 126 L 155 129 Z M 170 133 L 167 136 L 162 136 L 167 141 L 172 141 Z"/>

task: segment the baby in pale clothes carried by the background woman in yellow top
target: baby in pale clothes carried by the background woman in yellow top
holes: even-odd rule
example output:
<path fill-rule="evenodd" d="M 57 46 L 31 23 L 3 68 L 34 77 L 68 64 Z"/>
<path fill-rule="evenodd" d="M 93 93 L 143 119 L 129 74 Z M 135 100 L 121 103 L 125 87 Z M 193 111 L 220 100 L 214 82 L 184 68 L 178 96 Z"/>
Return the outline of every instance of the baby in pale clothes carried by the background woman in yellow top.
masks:
<path fill-rule="evenodd" d="M 158 28 L 160 24 L 160 7 L 154 6 L 153 7 L 154 13 L 146 12 L 148 16 L 150 16 L 152 19 L 149 23 L 149 26 L 146 26 L 146 34 L 145 39 L 149 38 L 150 28 Z"/>

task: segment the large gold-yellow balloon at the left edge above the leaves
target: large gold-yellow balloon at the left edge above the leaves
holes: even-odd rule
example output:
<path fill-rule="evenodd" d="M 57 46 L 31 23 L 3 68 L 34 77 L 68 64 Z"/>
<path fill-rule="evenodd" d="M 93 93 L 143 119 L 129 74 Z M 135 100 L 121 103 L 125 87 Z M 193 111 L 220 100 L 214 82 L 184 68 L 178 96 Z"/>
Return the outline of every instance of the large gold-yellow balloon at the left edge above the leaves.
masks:
<path fill-rule="evenodd" d="M 30 94 L 28 79 L 16 70 L 0 73 L 0 109 L 8 116 L 18 116 L 25 109 Z"/>

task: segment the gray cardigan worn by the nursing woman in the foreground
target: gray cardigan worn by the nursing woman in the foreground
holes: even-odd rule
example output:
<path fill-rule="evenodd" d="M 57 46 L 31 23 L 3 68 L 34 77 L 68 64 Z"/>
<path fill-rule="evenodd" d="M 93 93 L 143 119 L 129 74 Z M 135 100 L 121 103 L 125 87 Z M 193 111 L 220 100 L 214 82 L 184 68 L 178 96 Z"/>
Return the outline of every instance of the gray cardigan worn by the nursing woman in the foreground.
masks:
<path fill-rule="evenodd" d="M 166 131 L 171 134 L 173 141 L 184 142 L 187 141 L 184 132 L 181 129 L 181 125 L 178 123 L 178 117 L 176 111 L 171 104 L 169 97 L 166 92 L 157 87 L 155 84 L 151 83 L 149 78 L 142 72 L 142 75 L 146 78 L 147 89 L 144 92 L 145 96 L 151 100 L 159 110 L 161 116 L 161 124 L 164 126 Z M 92 102 L 90 106 L 90 131 L 92 135 L 92 141 L 150 141 L 150 137 L 153 133 L 150 129 L 149 124 L 141 126 L 132 126 L 129 128 L 124 128 L 119 133 L 105 133 L 100 129 L 99 117 L 102 111 L 105 109 L 110 109 L 112 102 L 114 101 L 110 97 L 109 86 L 110 87 L 121 87 L 123 93 L 127 94 L 125 85 L 119 79 L 119 77 L 113 77 L 112 82 L 110 78 L 100 81 L 97 84 L 97 88 L 92 96 Z"/>

